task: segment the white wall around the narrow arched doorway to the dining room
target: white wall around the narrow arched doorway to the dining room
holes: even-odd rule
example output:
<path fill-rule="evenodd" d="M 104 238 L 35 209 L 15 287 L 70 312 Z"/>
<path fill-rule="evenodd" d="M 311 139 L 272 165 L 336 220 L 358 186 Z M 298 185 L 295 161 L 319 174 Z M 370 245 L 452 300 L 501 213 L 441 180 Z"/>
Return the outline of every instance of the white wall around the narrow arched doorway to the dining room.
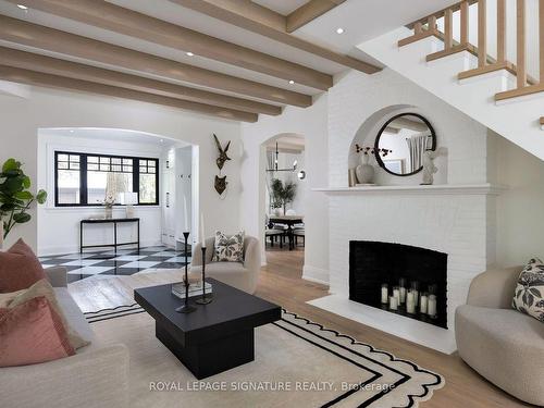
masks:
<path fill-rule="evenodd" d="M 326 95 L 314 100 L 307 109 L 288 107 L 280 116 L 261 116 L 257 123 L 242 125 L 244 159 L 242 160 L 240 224 L 247 234 L 264 234 L 264 146 L 271 137 L 285 133 L 305 136 L 305 170 L 307 194 L 305 205 L 306 251 L 305 277 L 329 280 L 329 223 L 327 199 L 311 191 L 322 187 L 327 178 L 327 102 Z"/>

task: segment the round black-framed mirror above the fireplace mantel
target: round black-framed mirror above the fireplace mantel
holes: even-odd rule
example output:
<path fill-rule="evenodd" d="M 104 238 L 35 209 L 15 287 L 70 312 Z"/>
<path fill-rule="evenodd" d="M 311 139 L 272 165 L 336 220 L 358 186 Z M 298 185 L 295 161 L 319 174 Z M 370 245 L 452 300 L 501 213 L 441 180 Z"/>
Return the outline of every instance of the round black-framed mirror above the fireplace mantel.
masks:
<path fill-rule="evenodd" d="M 407 176 L 423 169 L 423 154 L 436 149 L 431 123 L 417 113 L 401 113 L 390 119 L 378 133 L 374 154 L 387 173 Z"/>

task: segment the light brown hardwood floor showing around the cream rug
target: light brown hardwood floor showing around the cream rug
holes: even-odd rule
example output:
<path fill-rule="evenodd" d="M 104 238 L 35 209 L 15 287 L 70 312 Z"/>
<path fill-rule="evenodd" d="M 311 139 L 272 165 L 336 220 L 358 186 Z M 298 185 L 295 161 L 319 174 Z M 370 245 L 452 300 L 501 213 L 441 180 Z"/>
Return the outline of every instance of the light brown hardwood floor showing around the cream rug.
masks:
<path fill-rule="evenodd" d="M 424 408 L 530 407 L 485 381 L 456 354 L 444 355 L 307 305 L 308 300 L 327 295 L 327 286 L 301 279 L 304 250 L 300 248 L 294 251 L 269 250 L 267 261 L 268 264 L 262 268 L 259 277 L 258 296 L 444 375 L 446 379 L 444 388 L 435 392 L 429 401 L 420 406 Z M 181 274 L 158 272 L 127 277 L 97 275 L 70 284 L 70 292 L 84 311 L 95 311 L 133 304 L 135 287 L 150 286 L 158 281 L 175 282 L 181 279 Z"/>

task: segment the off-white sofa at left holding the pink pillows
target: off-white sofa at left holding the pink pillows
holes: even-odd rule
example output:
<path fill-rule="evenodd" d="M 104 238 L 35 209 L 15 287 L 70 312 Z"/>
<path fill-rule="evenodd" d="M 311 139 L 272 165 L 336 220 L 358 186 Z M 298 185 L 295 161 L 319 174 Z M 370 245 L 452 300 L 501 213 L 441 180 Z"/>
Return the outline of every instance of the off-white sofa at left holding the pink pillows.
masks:
<path fill-rule="evenodd" d="M 66 270 L 46 270 L 67 321 L 91 344 L 72 357 L 40 364 L 0 368 L 2 408 L 128 407 L 128 350 L 101 345 L 70 296 Z"/>

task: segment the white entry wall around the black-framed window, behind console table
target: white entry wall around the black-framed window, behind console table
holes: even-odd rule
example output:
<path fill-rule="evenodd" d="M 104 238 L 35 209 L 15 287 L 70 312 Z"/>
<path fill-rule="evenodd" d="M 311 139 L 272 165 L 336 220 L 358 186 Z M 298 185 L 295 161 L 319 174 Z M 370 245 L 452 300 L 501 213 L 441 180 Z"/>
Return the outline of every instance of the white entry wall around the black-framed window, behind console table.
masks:
<path fill-rule="evenodd" d="M 136 135 L 135 135 L 136 136 Z M 112 137 L 110 140 L 82 137 L 77 129 L 72 136 L 38 131 L 38 185 L 50 191 L 48 201 L 38 207 L 38 251 L 40 255 L 77 252 L 79 243 L 79 221 L 91 217 L 103 217 L 103 207 L 54 207 L 54 151 L 74 151 L 101 154 L 123 154 L 132 157 L 160 158 L 163 150 L 157 138 L 151 143 L 127 143 Z M 102 141 L 102 143 L 99 143 Z M 162 180 L 159 184 L 162 185 Z M 114 208 L 115 217 L 125 217 L 124 208 Z M 135 207 L 135 215 L 140 218 L 141 246 L 153 246 L 161 242 L 161 207 Z M 119 225 L 119 242 L 135 242 L 135 224 Z M 86 225 L 86 245 L 113 242 L 112 225 Z"/>

